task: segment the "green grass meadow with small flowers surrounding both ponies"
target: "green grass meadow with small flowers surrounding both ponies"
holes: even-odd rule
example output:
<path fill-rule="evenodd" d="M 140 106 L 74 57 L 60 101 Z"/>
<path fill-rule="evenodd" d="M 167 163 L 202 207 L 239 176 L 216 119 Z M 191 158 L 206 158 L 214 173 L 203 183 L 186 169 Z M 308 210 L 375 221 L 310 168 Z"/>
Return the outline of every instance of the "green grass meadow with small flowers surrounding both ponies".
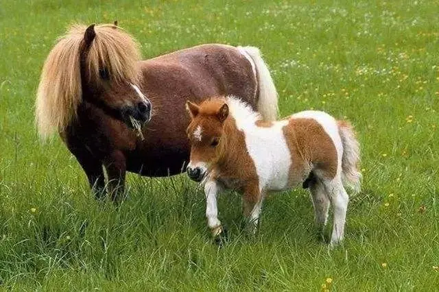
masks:
<path fill-rule="evenodd" d="M 0 288 L 439 290 L 439 1 L 86 2 L 0 0 Z M 239 229 L 239 195 L 219 197 L 222 248 L 185 175 L 130 175 L 120 210 L 97 204 L 60 139 L 38 141 L 34 99 L 69 24 L 115 19 L 144 58 L 202 42 L 257 46 L 281 114 L 350 119 L 364 182 L 344 245 L 322 243 L 300 189 L 266 199 L 253 238 Z"/>

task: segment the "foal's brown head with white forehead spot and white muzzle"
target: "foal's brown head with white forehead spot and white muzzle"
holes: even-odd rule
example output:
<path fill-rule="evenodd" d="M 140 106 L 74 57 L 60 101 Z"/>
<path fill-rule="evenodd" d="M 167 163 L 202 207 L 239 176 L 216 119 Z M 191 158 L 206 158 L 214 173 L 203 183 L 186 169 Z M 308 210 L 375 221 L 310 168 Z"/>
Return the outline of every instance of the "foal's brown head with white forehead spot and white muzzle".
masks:
<path fill-rule="evenodd" d="M 200 106 L 187 101 L 186 108 L 191 115 L 191 123 L 187 127 L 191 144 L 187 174 L 192 180 L 200 182 L 223 154 L 226 145 L 224 121 L 228 117 L 228 106 L 223 99 L 211 99 Z"/>

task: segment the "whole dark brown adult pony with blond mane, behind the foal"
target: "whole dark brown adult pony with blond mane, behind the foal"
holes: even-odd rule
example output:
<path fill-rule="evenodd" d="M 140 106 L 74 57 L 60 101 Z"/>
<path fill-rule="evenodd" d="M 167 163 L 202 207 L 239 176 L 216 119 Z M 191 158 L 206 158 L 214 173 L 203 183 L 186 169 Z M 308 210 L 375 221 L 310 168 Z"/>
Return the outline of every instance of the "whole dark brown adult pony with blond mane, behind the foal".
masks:
<path fill-rule="evenodd" d="M 200 45 L 140 59 L 137 42 L 120 27 L 74 25 L 43 67 L 38 131 L 43 138 L 60 134 L 98 197 L 105 193 L 102 165 L 113 199 L 126 171 L 166 176 L 185 169 L 187 99 L 237 95 L 264 119 L 276 119 L 276 89 L 254 47 Z M 139 124 L 140 135 L 133 129 Z"/>

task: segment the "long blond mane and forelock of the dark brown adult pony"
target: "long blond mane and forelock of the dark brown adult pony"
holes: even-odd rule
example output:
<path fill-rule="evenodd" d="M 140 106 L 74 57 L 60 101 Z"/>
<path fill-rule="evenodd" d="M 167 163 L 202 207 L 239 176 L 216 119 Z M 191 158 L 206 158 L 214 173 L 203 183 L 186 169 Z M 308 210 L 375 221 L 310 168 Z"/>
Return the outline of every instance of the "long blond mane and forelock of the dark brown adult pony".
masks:
<path fill-rule="evenodd" d="M 36 96 L 36 125 L 42 138 L 62 132 L 76 117 L 82 101 L 80 50 L 86 28 L 70 27 L 44 63 Z M 137 84 L 141 55 L 136 40 L 115 25 L 96 25 L 95 33 L 85 64 L 89 81 L 97 82 L 99 68 L 105 67 L 112 82 Z"/>

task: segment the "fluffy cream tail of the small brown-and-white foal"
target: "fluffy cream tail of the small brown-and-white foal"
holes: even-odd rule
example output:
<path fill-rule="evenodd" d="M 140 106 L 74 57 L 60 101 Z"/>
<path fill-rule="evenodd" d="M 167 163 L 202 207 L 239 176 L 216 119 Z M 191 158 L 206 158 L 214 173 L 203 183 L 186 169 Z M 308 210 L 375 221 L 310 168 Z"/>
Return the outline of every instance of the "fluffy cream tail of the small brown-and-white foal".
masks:
<path fill-rule="evenodd" d="M 353 188 L 355 193 L 361 189 L 361 173 L 358 171 L 360 151 L 359 143 L 355 138 L 353 126 L 348 121 L 337 121 L 338 131 L 342 138 L 342 180 Z"/>

